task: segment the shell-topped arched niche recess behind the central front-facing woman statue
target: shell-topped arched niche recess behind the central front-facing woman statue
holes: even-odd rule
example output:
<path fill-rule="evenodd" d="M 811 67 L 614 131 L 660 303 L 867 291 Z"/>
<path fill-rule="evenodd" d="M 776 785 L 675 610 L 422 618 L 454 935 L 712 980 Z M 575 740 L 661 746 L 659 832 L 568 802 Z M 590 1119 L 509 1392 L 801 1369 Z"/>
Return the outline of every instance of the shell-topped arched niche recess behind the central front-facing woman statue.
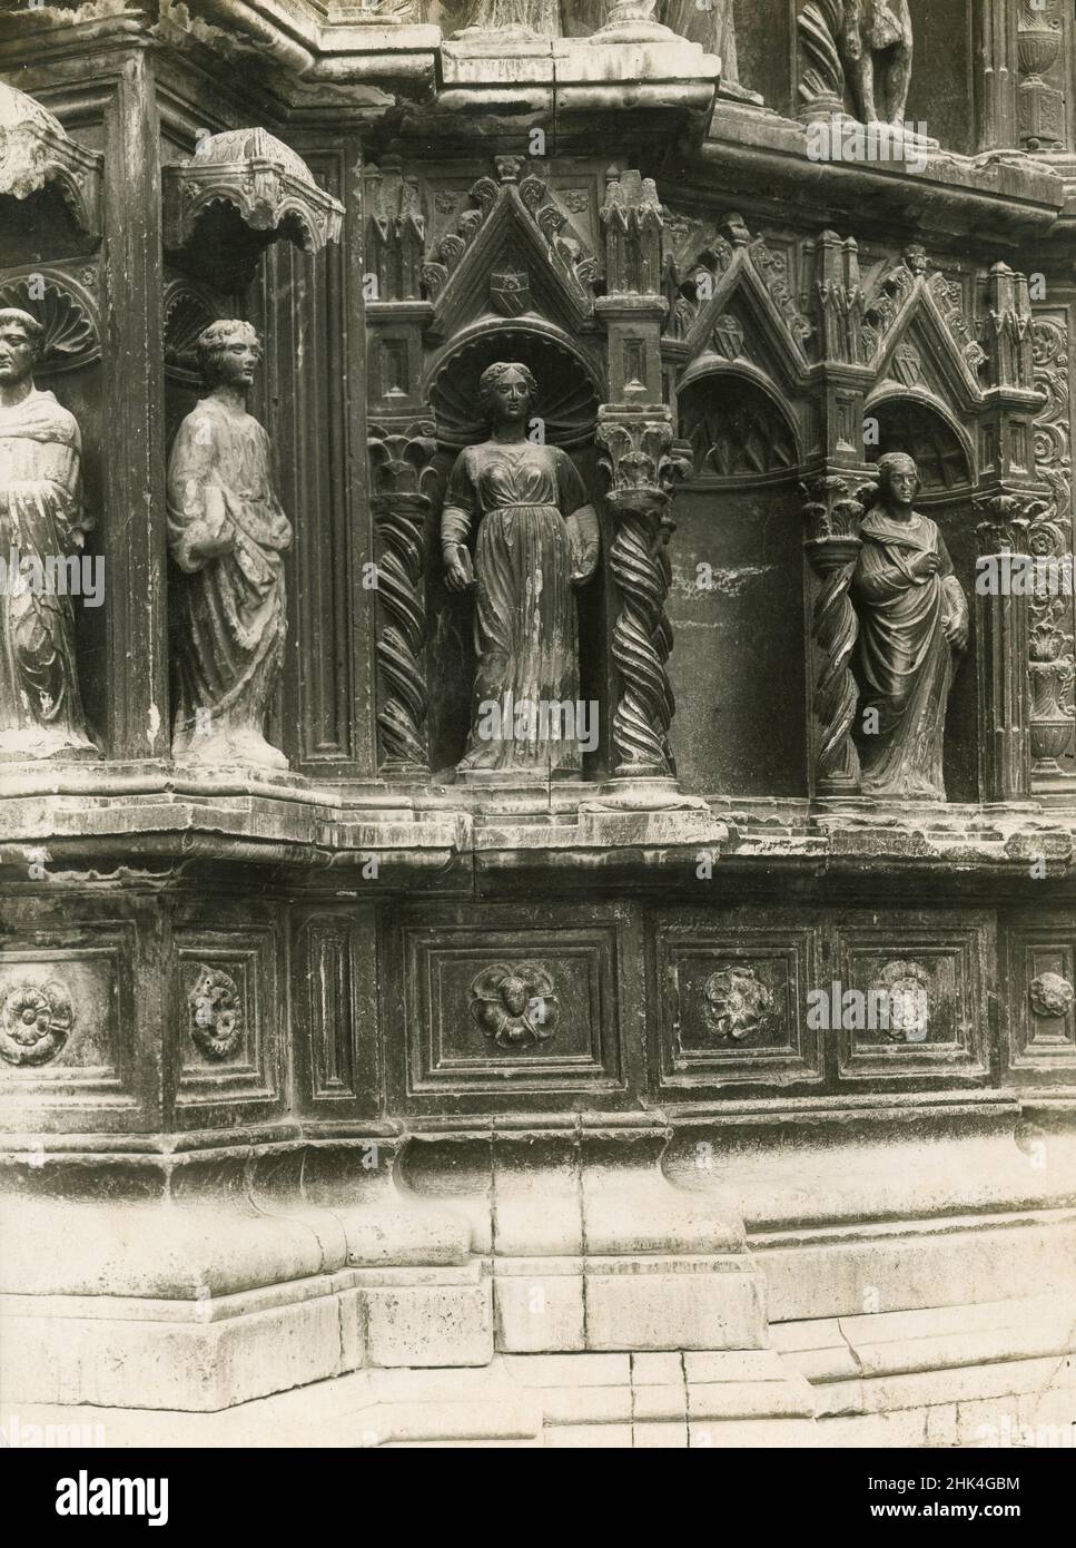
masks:
<path fill-rule="evenodd" d="M 601 495 L 606 481 L 598 469 L 594 429 L 598 404 L 606 396 L 604 382 L 598 365 L 584 354 L 575 341 L 549 324 L 527 320 L 506 324 L 484 319 L 453 339 L 433 359 L 427 372 L 425 390 L 434 410 L 441 444 L 436 463 L 441 475 L 439 494 L 444 495 L 448 474 L 459 452 L 489 435 L 489 424 L 479 406 L 478 384 L 485 367 L 495 361 L 518 361 L 530 370 L 538 382 L 538 402 L 533 416 L 541 421 L 541 426 L 535 427 L 535 437 L 543 435 L 547 443 L 563 446 L 570 454 L 601 517 Z M 428 731 L 430 768 L 434 774 L 455 768 L 462 757 L 475 681 L 475 598 L 473 594 L 455 594 L 444 584 L 441 503 L 442 500 L 438 498 L 433 531 L 430 533 L 427 584 Z M 597 752 L 584 760 L 584 772 L 589 776 L 597 774 L 604 766 L 608 757 L 606 723 L 612 714 L 606 692 L 604 639 L 608 630 L 603 584 L 612 536 L 603 520 L 603 562 L 598 565 L 598 574 L 577 591 L 580 692 L 584 700 L 594 700 L 601 706 L 601 740 Z"/>

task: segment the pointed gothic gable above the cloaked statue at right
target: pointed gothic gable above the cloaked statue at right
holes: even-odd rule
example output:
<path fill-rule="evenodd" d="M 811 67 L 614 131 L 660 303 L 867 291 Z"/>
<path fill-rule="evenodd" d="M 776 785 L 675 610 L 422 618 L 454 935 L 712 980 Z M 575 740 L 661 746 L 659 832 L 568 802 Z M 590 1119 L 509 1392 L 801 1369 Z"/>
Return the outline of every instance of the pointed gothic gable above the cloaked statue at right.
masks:
<path fill-rule="evenodd" d="M 867 302 L 864 341 L 875 381 L 923 387 L 952 412 L 982 406 L 985 351 L 971 336 L 959 286 L 931 271 L 921 248 L 909 248 Z"/>

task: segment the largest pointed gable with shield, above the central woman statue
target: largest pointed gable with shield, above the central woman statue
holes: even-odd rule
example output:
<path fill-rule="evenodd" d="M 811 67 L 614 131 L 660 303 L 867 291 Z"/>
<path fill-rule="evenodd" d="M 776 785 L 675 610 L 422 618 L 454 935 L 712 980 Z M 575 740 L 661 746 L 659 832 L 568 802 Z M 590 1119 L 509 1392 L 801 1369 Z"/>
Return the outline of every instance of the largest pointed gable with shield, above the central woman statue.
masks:
<path fill-rule="evenodd" d="M 566 231 L 546 183 L 516 183 L 521 158 L 498 158 L 501 186 L 479 178 L 475 207 L 442 237 L 422 279 L 434 305 L 433 333 L 450 337 L 479 317 L 541 316 L 575 334 L 594 313 L 597 260 Z"/>

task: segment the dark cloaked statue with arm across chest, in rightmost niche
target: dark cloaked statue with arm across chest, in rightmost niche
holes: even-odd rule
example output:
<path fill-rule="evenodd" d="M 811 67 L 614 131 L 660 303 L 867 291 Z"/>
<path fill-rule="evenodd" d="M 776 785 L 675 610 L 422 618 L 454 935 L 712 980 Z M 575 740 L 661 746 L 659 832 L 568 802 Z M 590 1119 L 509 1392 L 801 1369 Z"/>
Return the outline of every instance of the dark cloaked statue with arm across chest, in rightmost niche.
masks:
<path fill-rule="evenodd" d="M 968 602 L 937 522 L 912 508 L 920 489 L 912 458 L 890 452 L 878 475 L 852 577 L 863 793 L 945 800 L 945 714 L 955 655 L 968 646 Z"/>

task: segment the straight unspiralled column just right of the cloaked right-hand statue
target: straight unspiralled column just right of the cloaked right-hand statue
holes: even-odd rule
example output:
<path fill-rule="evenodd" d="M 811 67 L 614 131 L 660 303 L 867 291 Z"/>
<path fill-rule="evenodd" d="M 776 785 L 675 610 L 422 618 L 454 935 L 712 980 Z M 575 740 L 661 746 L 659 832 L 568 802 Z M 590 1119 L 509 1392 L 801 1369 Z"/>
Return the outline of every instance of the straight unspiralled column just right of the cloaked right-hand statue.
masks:
<path fill-rule="evenodd" d="M 1013 582 L 1020 557 L 1028 553 L 1028 522 L 1022 502 L 1011 495 L 985 500 L 979 511 L 989 517 L 976 528 L 980 791 L 983 800 L 1027 800 L 1031 791 L 1028 602 L 1020 582 Z M 988 580 L 996 580 L 989 590 Z"/>

